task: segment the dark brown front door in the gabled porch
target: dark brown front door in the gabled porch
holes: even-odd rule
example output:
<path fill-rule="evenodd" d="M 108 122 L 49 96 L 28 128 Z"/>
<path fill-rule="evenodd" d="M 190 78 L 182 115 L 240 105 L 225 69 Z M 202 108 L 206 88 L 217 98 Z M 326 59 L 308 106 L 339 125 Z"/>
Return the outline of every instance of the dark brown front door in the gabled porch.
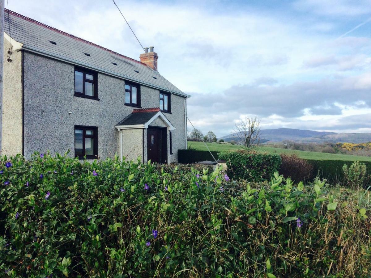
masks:
<path fill-rule="evenodd" d="M 167 132 L 163 128 L 147 129 L 147 159 L 165 163 L 167 160 Z"/>

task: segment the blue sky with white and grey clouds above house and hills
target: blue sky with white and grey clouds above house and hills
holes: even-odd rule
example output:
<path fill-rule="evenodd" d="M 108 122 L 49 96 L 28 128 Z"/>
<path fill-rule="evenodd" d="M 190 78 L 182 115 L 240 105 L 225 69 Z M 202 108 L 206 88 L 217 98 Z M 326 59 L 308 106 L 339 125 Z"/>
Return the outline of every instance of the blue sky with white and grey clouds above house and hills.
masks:
<path fill-rule="evenodd" d="M 139 59 L 111 0 L 8 0 L 9 9 Z M 203 133 L 371 132 L 371 0 L 115 0 Z M 7 7 L 7 4 L 6 4 Z M 188 123 L 188 130 L 191 130 Z"/>

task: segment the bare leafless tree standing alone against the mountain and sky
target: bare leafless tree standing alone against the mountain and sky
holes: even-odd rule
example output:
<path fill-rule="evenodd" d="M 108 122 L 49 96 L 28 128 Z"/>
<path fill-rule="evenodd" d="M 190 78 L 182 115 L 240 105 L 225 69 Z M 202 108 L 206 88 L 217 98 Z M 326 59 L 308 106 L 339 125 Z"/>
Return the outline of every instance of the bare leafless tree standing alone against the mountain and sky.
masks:
<path fill-rule="evenodd" d="M 260 119 L 245 117 L 236 123 L 233 138 L 245 148 L 252 148 L 259 145 L 260 140 Z"/>

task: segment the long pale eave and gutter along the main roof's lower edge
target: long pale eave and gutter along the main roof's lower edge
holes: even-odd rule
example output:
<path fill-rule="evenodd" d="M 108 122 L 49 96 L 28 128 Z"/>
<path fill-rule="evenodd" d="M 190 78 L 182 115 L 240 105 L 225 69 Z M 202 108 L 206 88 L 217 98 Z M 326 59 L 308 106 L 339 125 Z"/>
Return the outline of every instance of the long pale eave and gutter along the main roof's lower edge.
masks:
<path fill-rule="evenodd" d="M 91 69 L 91 70 L 95 70 L 95 71 L 100 72 L 100 73 L 104 73 L 106 75 L 110 75 L 110 76 L 118 77 L 118 78 L 125 79 L 125 80 L 128 80 L 128 81 L 132 81 L 132 82 L 135 82 L 135 83 L 139 83 L 141 85 L 152 87 L 152 88 L 162 90 L 162 91 L 165 91 L 165 92 L 170 92 L 174 95 L 183 96 L 183 97 L 191 97 L 190 95 L 187 95 L 183 92 L 174 92 L 174 91 L 172 91 L 168 88 L 164 88 L 164 87 L 160 87 L 160 86 L 155 86 L 153 84 L 145 83 L 145 82 L 142 82 L 142 81 L 137 80 L 137 79 L 132 79 L 132 78 L 130 78 L 128 76 L 125 76 L 125 75 L 118 75 L 115 72 L 111 72 L 109 70 L 104 70 L 104 69 L 101 69 L 101 68 L 98 68 L 98 67 L 93 67 L 89 64 L 82 63 L 78 60 L 68 59 L 68 58 L 66 58 L 62 55 L 56 55 L 56 54 L 47 52 L 45 50 L 37 49 L 36 47 L 26 46 L 26 45 L 22 44 L 22 50 L 32 52 L 32 53 L 35 53 L 35 54 L 39 54 L 39 55 L 42 55 L 42 56 L 46 56 L 46 57 L 56 59 L 56 60 L 59 60 L 59 61 L 62 61 L 62 62 L 75 64 L 76 66 L 82 66 L 82 67 L 85 67 L 87 69 Z"/>

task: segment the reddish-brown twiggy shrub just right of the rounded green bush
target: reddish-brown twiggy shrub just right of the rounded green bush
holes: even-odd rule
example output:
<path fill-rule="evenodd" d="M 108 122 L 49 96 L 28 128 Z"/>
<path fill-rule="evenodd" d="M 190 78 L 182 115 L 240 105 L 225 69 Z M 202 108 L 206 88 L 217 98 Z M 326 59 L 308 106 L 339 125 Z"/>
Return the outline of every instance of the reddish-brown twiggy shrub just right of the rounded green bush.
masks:
<path fill-rule="evenodd" d="M 297 155 L 281 153 L 280 174 L 285 178 L 290 177 L 295 182 L 308 181 L 312 177 L 313 166 L 305 159 L 299 158 Z"/>

